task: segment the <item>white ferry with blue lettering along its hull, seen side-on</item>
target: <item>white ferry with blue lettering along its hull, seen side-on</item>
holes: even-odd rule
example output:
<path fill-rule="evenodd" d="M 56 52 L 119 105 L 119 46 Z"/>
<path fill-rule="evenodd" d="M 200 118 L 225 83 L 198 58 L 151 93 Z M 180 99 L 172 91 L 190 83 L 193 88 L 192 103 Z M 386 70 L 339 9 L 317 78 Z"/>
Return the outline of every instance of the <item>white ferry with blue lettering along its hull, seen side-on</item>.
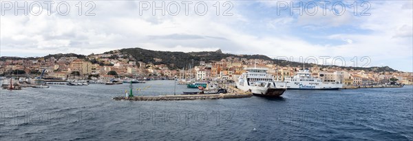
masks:
<path fill-rule="evenodd" d="M 308 68 L 299 70 L 293 77 L 284 79 L 284 82 L 277 82 L 276 84 L 286 84 L 288 90 L 339 90 L 343 88 L 343 84 L 324 84 L 323 80 L 311 76 Z"/>

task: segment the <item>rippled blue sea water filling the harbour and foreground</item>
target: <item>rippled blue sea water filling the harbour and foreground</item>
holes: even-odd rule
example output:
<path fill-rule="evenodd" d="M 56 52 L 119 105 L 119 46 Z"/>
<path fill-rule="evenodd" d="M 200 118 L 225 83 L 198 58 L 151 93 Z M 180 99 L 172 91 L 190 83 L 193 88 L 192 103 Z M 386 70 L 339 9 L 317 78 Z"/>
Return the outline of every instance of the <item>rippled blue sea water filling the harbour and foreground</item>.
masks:
<path fill-rule="evenodd" d="M 150 86 L 143 90 L 143 88 Z M 173 94 L 173 81 L 134 84 Z M 1 90 L 0 140 L 413 140 L 413 87 L 282 98 L 114 101 L 129 85 Z M 196 91 L 176 86 L 176 93 Z"/>

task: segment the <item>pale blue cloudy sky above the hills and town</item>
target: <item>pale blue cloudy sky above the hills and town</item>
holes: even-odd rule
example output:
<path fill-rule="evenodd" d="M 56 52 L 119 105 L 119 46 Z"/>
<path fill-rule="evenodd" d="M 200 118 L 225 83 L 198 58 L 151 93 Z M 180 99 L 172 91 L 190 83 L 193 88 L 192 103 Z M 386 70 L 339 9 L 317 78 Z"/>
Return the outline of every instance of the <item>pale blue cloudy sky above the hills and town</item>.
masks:
<path fill-rule="evenodd" d="M 328 56 L 327 64 L 342 58 L 346 66 L 390 66 L 413 72 L 412 1 L 330 1 L 326 6 L 319 1 L 317 5 L 301 1 L 301 6 L 300 1 L 184 1 L 188 9 L 182 1 L 163 1 L 165 15 L 162 10 L 153 14 L 153 7 L 162 1 L 156 5 L 153 1 L 83 1 L 81 12 L 79 1 L 67 1 L 67 13 L 65 4 L 57 6 L 61 1 L 54 1 L 51 8 L 45 1 L 39 1 L 41 7 L 34 2 L 28 1 L 28 15 L 17 10 L 16 16 L 16 3 L 11 1 L 10 8 L 9 1 L 1 1 L 1 56 L 89 55 L 130 47 L 184 52 L 221 49 L 294 61 L 299 56 L 315 57 L 319 64 L 320 57 Z M 341 65 L 341 60 L 336 64 Z"/>

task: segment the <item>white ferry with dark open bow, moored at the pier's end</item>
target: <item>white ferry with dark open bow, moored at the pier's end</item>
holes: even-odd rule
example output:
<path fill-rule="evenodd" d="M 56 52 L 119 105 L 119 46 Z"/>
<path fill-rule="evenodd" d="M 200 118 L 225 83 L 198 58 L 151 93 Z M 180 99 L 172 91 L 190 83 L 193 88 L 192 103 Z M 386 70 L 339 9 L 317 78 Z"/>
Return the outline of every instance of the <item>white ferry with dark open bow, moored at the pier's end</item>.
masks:
<path fill-rule="evenodd" d="M 267 74 L 266 68 L 246 68 L 236 83 L 237 88 L 244 91 L 251 91 L 256 96 L 279 97 L 286 91 L 274 83 L 271 75 Z"/>

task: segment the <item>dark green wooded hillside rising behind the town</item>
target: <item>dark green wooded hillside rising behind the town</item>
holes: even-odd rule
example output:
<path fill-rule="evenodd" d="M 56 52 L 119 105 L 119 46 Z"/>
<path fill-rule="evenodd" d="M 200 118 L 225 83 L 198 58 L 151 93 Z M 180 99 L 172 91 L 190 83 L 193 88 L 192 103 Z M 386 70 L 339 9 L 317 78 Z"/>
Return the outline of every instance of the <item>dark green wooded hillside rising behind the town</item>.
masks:
<path fill-rule="evenodd" d="M 145 62 L 145 63 L 153 63 L 153 64 L 167 64 L 169 68 L 171 69 L 181 69 L 181 68 L 187 68 L 189 64 L 192 64 L 194 66 L 197 66 L 200 64 L 200 61 L 204 62 L 215 62 L 215 61 L 220 61 L 226 57 L 242 57 L 246 58 L 248 60 L 250 59 L 260 59 L 260 60 L 270 60 L 274 64 L 277 64 L 279 66 L 302 66 L 303 64 L 301 62 L 290 62 L 286 60 L 274 60 L 271 57 L 268 57 L 266 55 L 234 55 L 230 53 L 222 53 L 221 50 L 218 51 L 200 51 L 200 52 L 189 52 L 189 53 L 184 53 L 184 52 L 178 52 L 178 51 L 151 51 L 148 49 L 140 49 L 140 48 L 128 48 L 128 49 L 120 49 L 119 50 L 120 54 L 126 55 L 124 57 L 129 57 L 130 60 L 135 60 L 138 62 Z M 114 51 L 107 51 L 105 54 L 112 54 Z M 54 54 L 54 55 L 46 55 L 43 58 L 47 59 L 50 57 L 54 57 L 56 59 L 59 59 L 60 57 L 78 57 L 81 59 L 85 59 L 85 55 L 78 55 L 75 53 L 59 53 L 59 54 Z M 32 60 L 32 59 L 38 59 L 40 57 L 28 57 L 27 59 Z M 112 57 L 111 57 L 112 58 Z M 116 57 L 113 57 L 112 59 L 115 59 Z M 24 59 L 22 57 L 0 57 L 1 61 L 5 60 L 20 60 Z M 96 61 L 96 60 L 95 60 Z M 315 66 L 315 64 L 305 64 L 305 66 Z M 351 67 L 351 66 L 320 66 L 319 67 L 339 67 L 339 68 L 344 68 L 347 70 L 354 69 L 354 70 L 363 70 L 363 71 L 374 71 L 374 72 L 394 72 L 393 68 L 390 68 L 389 66 L 373 66 L 369 68 L 363 68 L 363 67 Z"/>

